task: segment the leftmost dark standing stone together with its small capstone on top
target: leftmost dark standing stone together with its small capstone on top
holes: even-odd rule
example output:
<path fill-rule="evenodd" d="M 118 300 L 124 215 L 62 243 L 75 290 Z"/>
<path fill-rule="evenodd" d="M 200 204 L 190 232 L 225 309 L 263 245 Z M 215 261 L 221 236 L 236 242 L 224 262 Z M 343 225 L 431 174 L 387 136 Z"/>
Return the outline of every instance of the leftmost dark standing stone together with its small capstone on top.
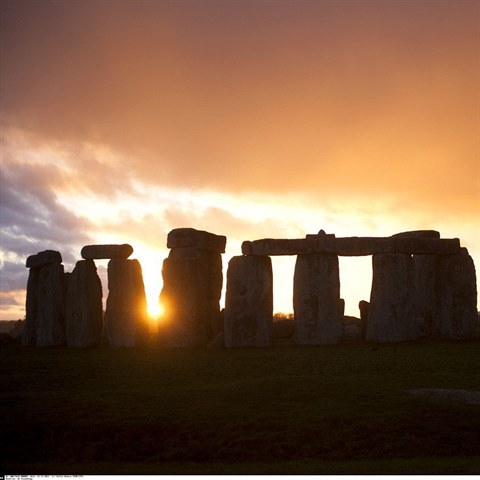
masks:
<path fill-rule="evenodd" d="M 62 256 L 45 250 L 27 258 L 26 319 L 22 344 L 58 347 L 65 344 L 65 273 Z"/>

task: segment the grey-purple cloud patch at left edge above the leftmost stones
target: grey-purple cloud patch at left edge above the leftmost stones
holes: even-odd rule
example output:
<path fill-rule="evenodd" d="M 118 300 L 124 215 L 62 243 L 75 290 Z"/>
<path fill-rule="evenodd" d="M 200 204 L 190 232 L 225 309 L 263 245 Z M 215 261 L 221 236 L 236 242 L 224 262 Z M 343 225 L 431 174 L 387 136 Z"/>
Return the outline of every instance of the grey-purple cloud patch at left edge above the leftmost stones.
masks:
<path fill-rule="evenodd" d="M 14 163 L 5 159 L 0 172 L 0 308 L 2 315 L 24 297 L 26 258 L 42 250 L 58 250 L 67 269 L 89 243 L 89 223 L 60 205 L 53 186 L 61 174 L 52 165 Z M 7 302 L 7 303 L 5 303 Z"/>

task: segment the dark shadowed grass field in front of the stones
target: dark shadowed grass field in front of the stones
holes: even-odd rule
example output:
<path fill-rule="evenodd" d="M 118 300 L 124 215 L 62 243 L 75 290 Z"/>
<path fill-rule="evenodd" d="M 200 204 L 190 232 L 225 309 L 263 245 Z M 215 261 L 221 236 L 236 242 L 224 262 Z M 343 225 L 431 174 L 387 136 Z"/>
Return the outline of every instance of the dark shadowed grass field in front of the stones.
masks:
<path fill-rule="evenodd" d="M 0 352 L 2 473 L 480 473 L 480 344 Z"/>

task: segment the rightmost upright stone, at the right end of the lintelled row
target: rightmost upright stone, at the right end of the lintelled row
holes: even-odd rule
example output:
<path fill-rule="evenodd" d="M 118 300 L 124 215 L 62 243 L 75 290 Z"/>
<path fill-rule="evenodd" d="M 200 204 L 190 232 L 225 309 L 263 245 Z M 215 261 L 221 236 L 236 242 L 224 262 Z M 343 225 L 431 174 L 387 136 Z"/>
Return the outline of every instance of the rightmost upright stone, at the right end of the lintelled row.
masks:
<path fill-rule="evenodd" d="M 458 255 L 438 257 L 435 297 L 435 331 L 444 338 L 474 338 L 477 281 L 475 265 L 466 248 Z"/>

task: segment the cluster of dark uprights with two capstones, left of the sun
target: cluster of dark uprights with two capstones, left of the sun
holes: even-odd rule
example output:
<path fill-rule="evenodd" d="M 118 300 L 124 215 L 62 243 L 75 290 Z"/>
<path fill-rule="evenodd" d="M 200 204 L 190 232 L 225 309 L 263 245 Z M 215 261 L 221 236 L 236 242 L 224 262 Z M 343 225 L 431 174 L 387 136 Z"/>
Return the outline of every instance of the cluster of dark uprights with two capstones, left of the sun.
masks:
<path fill-rule="evenodd" d="M 146 298 L 138 260 L 128 245 L 87 245 L 71 273 L 60 252 L 45 250 L 27 258 L 25 346 L 89 348 L 100 345 L 104 329 L 102 284 L 94 259 L 108 259 L 109 295 L 105 331 L 110 346 L 141 345 L 147 335 Z"/>

